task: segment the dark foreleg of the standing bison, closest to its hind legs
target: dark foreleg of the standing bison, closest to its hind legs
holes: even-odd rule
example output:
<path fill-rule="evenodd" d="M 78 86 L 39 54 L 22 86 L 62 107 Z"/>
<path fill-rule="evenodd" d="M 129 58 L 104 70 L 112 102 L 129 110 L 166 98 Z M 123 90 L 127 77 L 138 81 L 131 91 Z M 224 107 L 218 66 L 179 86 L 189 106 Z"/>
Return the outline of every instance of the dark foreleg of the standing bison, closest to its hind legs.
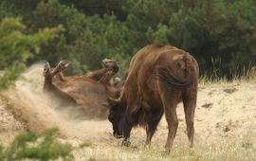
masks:
<path fill-rule="evenodd" d="M 163 116 L 163 110 L 152 111 L 149 117 L 148 126 L 146 127 L 147 139 L 146 145 L 150 145 L 152 136 L 155 134 L 156 127 Z"/>

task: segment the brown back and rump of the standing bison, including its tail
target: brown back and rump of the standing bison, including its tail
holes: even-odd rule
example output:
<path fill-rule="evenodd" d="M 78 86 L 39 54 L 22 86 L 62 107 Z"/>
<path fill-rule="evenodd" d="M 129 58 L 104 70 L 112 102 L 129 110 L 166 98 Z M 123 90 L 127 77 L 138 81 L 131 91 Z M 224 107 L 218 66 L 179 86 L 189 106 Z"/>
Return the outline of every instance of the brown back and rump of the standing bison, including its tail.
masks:
<path fill-rule="evenodd" d="M 173 90 L 197 85 L 198 64 L 189 53 L 174 46 L 147 45 L 133 57 L 128 73 L 123 96 L 128 107 L 137 111 L 144 99 L 159 99 L 159 83 Z"/>

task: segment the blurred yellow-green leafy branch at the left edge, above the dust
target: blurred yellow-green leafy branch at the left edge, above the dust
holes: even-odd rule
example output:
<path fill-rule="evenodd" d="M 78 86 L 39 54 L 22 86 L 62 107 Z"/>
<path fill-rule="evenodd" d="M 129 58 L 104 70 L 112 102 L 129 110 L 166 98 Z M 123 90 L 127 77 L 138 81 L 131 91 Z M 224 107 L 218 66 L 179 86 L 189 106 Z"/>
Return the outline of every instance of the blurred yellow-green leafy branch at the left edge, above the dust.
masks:
<path fill-rule="evenodd" d="M 40 45 L 54 39 L 62 27 L 39 29 L 27 34 L 26 26 L 18 18 L 5 18 L 0 22 L 0 69 L 5 70 L 0 89 L 8 87 L 25 69 L 27 59 L 40 52 Z"/>

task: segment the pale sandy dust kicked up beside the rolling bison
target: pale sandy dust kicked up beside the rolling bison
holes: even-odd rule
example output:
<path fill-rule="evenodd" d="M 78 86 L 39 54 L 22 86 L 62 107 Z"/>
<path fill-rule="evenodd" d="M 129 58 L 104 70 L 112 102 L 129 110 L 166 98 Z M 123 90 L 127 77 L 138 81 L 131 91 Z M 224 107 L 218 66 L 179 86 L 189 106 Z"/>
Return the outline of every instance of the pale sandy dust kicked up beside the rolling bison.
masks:
<path fill-rule="evenodd" d="M 27 69 L 19 80 L 2 92 L 8 101 L 8 109 L 16 119 L 26 122 L 29 130 L 43 132 L 57 127 L 61 136 L 78 139 L 93 139 L 98 135 L 111 135 L 107 120 L 89 119 L 78 107 L 59 107 L 54 98 L 43 93 L 43 63 Z"/>

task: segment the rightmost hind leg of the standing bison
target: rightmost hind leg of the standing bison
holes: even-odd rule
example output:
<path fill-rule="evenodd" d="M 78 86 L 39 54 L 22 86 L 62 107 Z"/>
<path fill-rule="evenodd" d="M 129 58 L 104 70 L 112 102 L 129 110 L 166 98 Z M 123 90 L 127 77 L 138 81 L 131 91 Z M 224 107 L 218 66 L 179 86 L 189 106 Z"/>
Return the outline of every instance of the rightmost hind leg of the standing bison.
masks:
<path fill-rule="evenodd" d="M 194 118 L 194 111 L 195 111 L 195 104 L 196 104 L 196 91 L 195 92 L 187 92 L 183 94 L 183 104 L 184 104 L 184 111 L 185 111 L 185 118 L 187 124 L 187 134 L 190 141 L 190 147 L 193 147 L 193 118 Z"/>

